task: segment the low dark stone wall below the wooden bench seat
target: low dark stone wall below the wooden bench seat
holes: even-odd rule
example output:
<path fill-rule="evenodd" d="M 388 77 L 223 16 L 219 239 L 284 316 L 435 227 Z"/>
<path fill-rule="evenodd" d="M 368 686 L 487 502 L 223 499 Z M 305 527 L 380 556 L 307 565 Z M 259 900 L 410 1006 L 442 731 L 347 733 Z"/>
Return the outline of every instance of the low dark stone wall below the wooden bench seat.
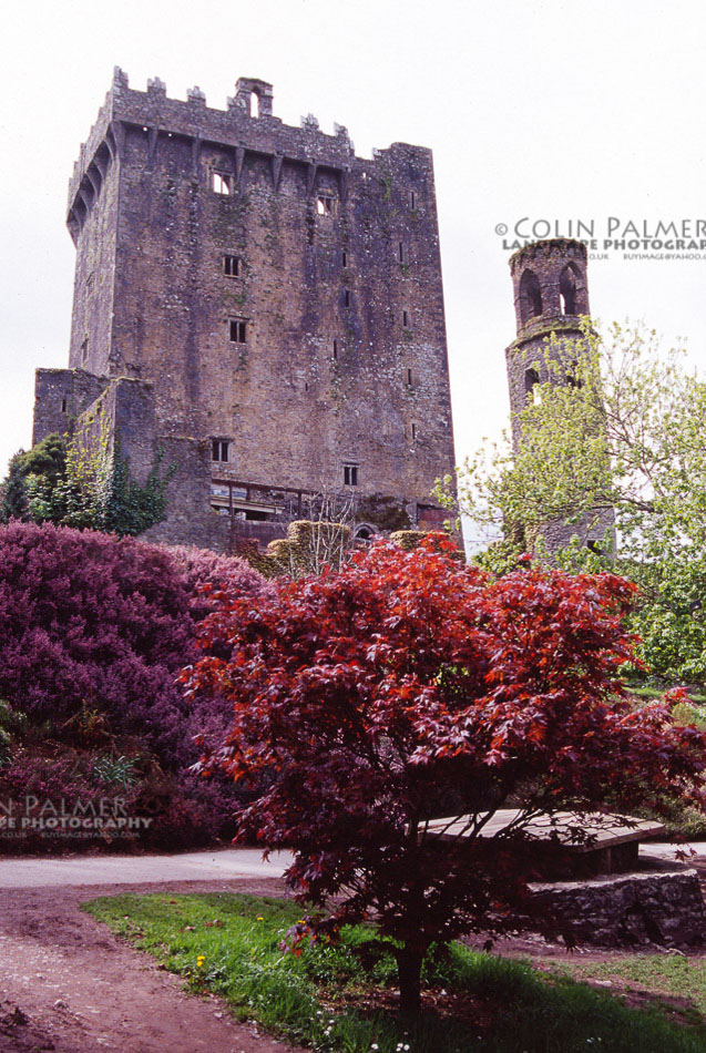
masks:
<path fill-rule="evenodd" d="M 695 870 L 686 867 L 531 886 L 556 933 L 604 947 L 698 947 L 706 912 Z"/>

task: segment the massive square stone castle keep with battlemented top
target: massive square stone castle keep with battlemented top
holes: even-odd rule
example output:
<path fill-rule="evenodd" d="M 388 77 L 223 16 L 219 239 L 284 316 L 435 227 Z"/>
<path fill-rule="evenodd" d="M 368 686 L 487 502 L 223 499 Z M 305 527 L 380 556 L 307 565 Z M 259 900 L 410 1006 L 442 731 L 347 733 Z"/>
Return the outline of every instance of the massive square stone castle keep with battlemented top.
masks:
<path fill-rule="evenodd" d="M 100 411 L 135 478 L 162 450 L 176 474 L 149 536 L 270 540 L 321 491 L 355 495 L 366 529 L 390 509 L 440 522 L 429 494 L 454 458 L 429 150 L 358 157 L 345 127 L 283 124 L 260 80 L 214 110 L 116 70 L 68 225 L 69 368 L 38 371 L 33 439 Z"/>

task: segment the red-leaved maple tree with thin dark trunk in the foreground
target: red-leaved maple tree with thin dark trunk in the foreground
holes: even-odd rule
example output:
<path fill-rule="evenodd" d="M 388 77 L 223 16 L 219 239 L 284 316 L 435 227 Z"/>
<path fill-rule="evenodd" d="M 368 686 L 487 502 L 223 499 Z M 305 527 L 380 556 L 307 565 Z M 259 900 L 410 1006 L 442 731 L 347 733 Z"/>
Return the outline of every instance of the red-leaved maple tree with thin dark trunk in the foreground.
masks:
<path fill-rule="evenodd" d="M 315 931 L 377 926 L 407 1011 L 432 942 L 526 910 L 538 812 L 703 793 L 705 736 L 668 699 L 622 698 L 634 586 L 529 564 L 494 580 L 453 555 L 443 535 L 380 543 L 272 597 L 223 596 L 185 674 L 233 702 L 212 763 L 259 788 L 239 836 L 294 850 Z M 434 816 L 467 817 L 462 834 L 442 841 Z"/>

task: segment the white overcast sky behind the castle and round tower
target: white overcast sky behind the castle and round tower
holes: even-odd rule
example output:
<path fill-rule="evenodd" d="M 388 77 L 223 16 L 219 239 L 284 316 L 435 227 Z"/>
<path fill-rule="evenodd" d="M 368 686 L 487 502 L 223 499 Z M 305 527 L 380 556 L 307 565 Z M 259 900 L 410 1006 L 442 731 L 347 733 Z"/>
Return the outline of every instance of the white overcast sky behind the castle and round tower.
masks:
<path fill-rule="evenodd" d="M 145 90 L 238 76 L 288 124 L 347 125 L 356 151 L 434 153 L 457 459 L 509 412 L 512 287 L 495 226 L 706 221 L 706 8 L 566 0 L 33 0 L 2 20 L 0 474 L 31 436 L 33 371 L 68 364 L 74 249 L 65 193 L 114 65 Z M 540 231 L 541 233 L 541 231 Z M 616 235 L 614 235 L 616 236 Z M 705 238 L 706 239 L 706 238 Z M 594 317 L 644 319 L 706 366 L 700 259 L 589 269 Z"/>

